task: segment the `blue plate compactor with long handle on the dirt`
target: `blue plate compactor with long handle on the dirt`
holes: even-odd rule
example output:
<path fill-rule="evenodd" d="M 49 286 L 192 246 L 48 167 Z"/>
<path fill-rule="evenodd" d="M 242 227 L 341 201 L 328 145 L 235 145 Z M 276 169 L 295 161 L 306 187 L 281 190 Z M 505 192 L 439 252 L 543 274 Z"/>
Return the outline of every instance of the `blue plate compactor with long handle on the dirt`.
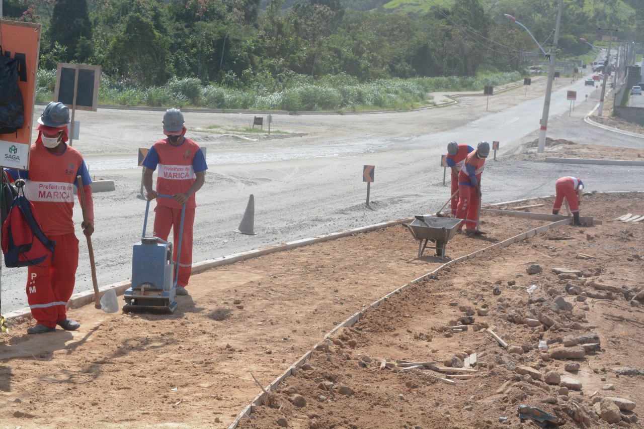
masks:
<path fill-rule="evenodd" d="M 160 195 L 163 198 L 173 198 Z M 172 243 L 159 237 L 146 237 L 147 213 L 143 223 L 141 242 L 132 249 L 132 286 L 124 293 L 126 304 L 123 311 L 151 311 L 173 313 L 179 305 L 175 301 L 178 260 L 181 255 L 181 239 L 184 235 L 185 204 L 181 211 L 179 242 L 176 251 L 176 264 L 172 260 Z"/>

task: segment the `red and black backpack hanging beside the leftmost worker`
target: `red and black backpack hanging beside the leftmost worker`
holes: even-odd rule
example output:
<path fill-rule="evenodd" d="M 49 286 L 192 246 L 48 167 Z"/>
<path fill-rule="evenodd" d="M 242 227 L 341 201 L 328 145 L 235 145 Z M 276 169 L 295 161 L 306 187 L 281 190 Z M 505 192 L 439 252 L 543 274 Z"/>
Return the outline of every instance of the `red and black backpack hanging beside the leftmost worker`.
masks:
<path fill-rule="evenodd" d="M 44 235 L 33 204 L 18 194 L 2 226 L 5 266 L 7 268 L 30 265 L 50 266 L 55 245 L 55 241 Z"/>

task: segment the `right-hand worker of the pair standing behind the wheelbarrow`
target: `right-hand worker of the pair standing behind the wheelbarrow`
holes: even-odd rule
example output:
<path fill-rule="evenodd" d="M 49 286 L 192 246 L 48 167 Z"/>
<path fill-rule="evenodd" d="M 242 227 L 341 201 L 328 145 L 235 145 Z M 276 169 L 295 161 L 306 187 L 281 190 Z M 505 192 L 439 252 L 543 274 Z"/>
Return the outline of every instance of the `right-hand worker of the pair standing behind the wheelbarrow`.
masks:
<path fill-rule="evenodd" d="M 465 224 L 465 232 L 479 235 L 478 208 L 481 198 L 481 174 L 483 173 L 485 159 L 489 155 L 489 143 L 481 141 L 477 149 L 469 152 L 465 165 L 459 172 L 459 206 L 456 211 L 457 219 L 463 219 L 459 231 Z"/>

